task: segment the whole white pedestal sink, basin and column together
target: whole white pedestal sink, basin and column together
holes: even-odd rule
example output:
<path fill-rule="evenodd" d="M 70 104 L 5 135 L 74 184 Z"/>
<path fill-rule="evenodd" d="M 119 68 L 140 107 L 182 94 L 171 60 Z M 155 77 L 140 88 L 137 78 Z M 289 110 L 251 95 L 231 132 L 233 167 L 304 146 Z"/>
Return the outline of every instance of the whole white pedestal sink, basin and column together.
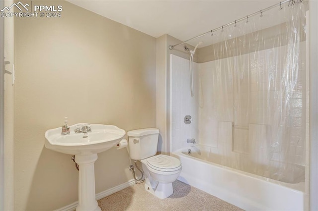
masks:
<path fill-rule="evenodd" d="M 124 137 L 125 131 L 114 125 L 90 124 L 91 132 L 75 133 L 76 128 L 86 123 L 70 126 L 71 132 L 62 135 L 62 127 L 45 132 L 47 149 L 75 155 L 79 164 L 79 205 L 77 211 L 100 211 L 95 199 L 94 162 L 97 153 L 117 145 Z"/>

